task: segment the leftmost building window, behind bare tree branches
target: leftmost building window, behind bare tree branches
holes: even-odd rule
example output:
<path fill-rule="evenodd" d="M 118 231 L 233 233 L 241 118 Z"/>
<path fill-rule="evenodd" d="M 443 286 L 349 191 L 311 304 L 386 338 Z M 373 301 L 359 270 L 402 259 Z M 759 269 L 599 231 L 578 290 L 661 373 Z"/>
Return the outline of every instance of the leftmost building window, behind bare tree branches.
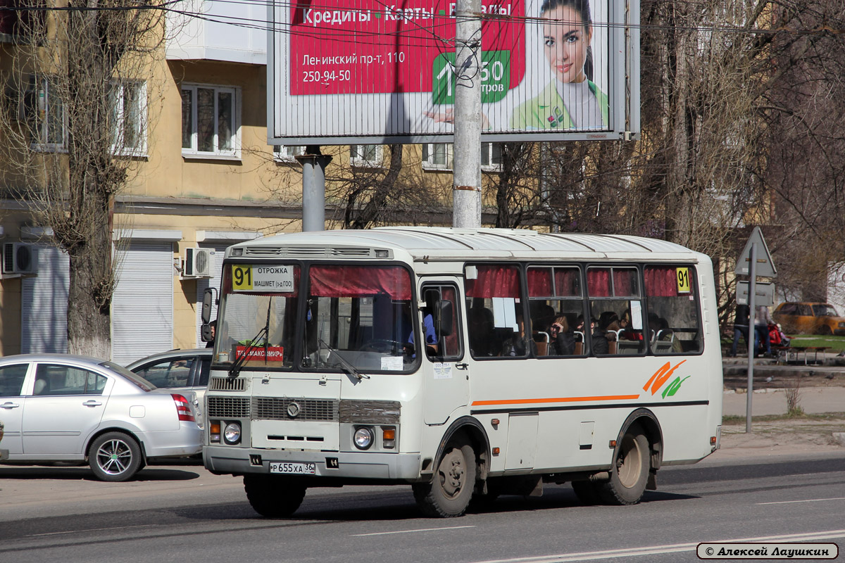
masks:
<path fill-rule="evenodd" d="M 57 92 L 55 78 L 30 75 L 24 111 L 33 149 L 65 149 L 64 106 Z"/>

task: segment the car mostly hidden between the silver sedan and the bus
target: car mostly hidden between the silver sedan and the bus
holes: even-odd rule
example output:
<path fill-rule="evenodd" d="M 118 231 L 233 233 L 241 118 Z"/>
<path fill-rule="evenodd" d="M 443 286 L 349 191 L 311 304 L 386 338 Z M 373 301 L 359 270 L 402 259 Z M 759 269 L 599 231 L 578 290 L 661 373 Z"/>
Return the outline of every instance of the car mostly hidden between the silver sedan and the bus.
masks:
<path fill-rule="evenodd" d="M 127 365 L 155 387 L 174 391 L 192 391 L 196 395 L 194 412 L 197 424 L 203 426 L 203 398 L 209 384 L 210 348 L 174 349 L 149 355 Z"/>

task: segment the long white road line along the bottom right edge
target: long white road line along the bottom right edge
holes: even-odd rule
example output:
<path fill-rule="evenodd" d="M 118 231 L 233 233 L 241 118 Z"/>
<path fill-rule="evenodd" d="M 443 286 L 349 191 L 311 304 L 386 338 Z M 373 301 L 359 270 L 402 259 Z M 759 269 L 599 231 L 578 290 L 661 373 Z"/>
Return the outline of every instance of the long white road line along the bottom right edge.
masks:
<path fill-rule="evenodd" d="M 785 541 L 791 540 L 800 541 L 814 541 L 816 539 L 836 539 L 845 538 L 845 529 L 830 530 L 827 532 L 807 532 L 807 533 L 788 533 L 778 536 L 765 536 L 762 538 L 739 538 L 739 539 L 719 539 L 706 540 L 694 544 L 667 544 L 667 545 L 651 545 L 640 548 L 630 549 L 606 549 L 602 551 L 583 551 L 581 553 L 561 553 L 557 555 L 538 555 L 534 557 L 514 557 L 512 559 L 494 559 L 476 561 L 475 563 L 565 563 L 566 561 L 586 561 L 597 559 L 613 559 L 616 557 L 634 557 L 637 555 L 659 555 L 664 553 L 677 553 L 679 551 L 695 551 L 698 544 L 701 543 L 737 543 L 737 542 L 765 542 L 765 541 Z"/>

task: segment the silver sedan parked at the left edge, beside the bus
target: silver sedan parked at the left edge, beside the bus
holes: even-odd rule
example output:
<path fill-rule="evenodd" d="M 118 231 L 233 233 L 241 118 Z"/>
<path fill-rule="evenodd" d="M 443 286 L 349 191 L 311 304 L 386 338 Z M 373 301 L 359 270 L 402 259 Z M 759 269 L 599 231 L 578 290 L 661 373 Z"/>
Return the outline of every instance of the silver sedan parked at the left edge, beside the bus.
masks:
<path fill-rule="evenodd" d="M 110 361 L 74 355 L 0 359 L 3 463 L 89 463 L 125 481 L 161 457 L 202 451 L 193 396 L 156 389 Z"/>

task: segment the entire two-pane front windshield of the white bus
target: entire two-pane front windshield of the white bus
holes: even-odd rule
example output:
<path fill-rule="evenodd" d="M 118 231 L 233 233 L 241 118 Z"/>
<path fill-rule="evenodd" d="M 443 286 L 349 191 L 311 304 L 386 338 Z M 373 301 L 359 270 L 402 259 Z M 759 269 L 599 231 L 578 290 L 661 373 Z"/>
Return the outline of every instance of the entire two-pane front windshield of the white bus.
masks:
<path fill-rule="evenodd" d="M 410 371 L 411 274 L 399 266 L 231 264 L 215 363 L 240 369 Z M 308 295 L 305 303 L 300 295 Z M 304 306 L 303 306 L 304 305 Z M 300 311 L 303 309 L 303 311 Z M 303 315 L 297 322 L 297 315 Z M 294 357 L 297 355 L 297 358 Z"/>

